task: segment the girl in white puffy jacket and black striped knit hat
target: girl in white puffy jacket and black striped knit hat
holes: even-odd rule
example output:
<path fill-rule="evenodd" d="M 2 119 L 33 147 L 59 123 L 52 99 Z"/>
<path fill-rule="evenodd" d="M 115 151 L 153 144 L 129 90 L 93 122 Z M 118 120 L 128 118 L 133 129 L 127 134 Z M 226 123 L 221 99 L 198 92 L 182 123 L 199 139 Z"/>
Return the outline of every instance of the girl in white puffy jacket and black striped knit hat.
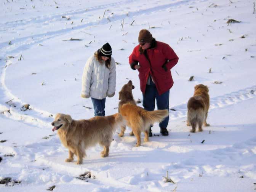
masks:
<path fill-rule="evenodd" d="M 83 69 L 82 98 L 91 97 L 95 116 L 105 116 L 106 97 L 115 95 L 115 60 L 112 48 L 104 44 L 91 56 Z"/>

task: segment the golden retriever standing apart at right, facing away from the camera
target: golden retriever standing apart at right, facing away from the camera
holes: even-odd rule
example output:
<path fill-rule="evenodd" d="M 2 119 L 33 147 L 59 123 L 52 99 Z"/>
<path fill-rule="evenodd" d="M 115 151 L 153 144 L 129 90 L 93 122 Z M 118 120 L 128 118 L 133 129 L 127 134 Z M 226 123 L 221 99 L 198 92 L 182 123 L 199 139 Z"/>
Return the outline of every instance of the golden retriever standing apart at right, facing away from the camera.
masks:
<path fill-rule="evenodd" d="M 208 87 L 199 84 L 196 85 L 193 97 L 187 102 L 187 126 L 192 126 L 190 132 L 194 133 L 198 125 L 198 131 L 203 131 L 203 126 L 210 126 L 206 123 L 208 110 L 210 106 L 210 96 Z"/>

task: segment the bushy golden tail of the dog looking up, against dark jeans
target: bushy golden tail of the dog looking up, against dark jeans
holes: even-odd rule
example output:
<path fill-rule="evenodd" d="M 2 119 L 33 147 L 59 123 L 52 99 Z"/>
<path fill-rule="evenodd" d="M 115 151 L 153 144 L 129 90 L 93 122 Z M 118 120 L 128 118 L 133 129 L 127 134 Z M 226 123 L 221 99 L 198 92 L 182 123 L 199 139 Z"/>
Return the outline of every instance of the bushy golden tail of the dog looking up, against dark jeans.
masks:
<path fill-rule="evenodd" d="M 154 110 L 154 111 L 147 111 L 146 115 L 144 115 L 143 118 L 145 118 L 147 123 L 150 123 L 153 125 L 156 122 L 162 122 L 165 117 L 169 115 L 168 109 L 163 110 Z"/>

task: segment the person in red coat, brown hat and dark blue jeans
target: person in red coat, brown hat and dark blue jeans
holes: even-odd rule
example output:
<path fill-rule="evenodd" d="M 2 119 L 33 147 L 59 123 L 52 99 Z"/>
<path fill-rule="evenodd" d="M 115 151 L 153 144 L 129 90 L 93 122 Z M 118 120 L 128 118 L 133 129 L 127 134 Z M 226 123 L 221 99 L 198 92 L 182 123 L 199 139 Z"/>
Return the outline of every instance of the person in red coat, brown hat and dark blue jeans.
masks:
<path fill-rule="evenodd" d="M 168 44 L 156 41 L 146 29 L 139 32 L 138 41 L 139 45 L 129 56 L 129 63 L 133 70 L 139 71 L 143 107 L 149 111 L 154 110 L 156 100 L 157 109 L 169 110 L 170 88 L 173 86 L 170 69 L 176 65 L 179 58 Z M 169 116 L 159 123 L 163 136 L 168 135 L 168 122 Z M 151 128 L 149 136 L 152 136 Z"/>

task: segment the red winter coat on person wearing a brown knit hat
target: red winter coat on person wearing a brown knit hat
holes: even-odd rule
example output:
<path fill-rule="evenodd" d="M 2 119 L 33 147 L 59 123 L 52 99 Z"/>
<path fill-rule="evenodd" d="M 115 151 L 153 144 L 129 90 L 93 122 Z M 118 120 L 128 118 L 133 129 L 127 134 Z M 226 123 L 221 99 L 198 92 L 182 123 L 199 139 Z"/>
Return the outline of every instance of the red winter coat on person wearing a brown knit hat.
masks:
<path fill-rule="evenodd" d="M 158 94 L 161 95 L 166 91 L 170 90 L 173 86 L 173 78 L 171 77 L 171 68 L 176 65 L 179 58 L 174 53 L 173 49 L 166 43 L 156 41 L 156 46 L 154 48 L 147 49 L 147 55 L 150 60 L 146 58 L 143 53 L 139 52 L 140 45 L 137 45 L 133 49 L 133 53 L 129 56 L 129 63 L 131 68 L 134 69 L 136 62 L 139 62 L 141 66 L 139 71 L 139 80 L 141 91 L 144 94 L 146 91 L 147 79 L 149 74 L 152 76 L 155 82 Z M 167 70 L 162 67 L 166 63 Z"/>

